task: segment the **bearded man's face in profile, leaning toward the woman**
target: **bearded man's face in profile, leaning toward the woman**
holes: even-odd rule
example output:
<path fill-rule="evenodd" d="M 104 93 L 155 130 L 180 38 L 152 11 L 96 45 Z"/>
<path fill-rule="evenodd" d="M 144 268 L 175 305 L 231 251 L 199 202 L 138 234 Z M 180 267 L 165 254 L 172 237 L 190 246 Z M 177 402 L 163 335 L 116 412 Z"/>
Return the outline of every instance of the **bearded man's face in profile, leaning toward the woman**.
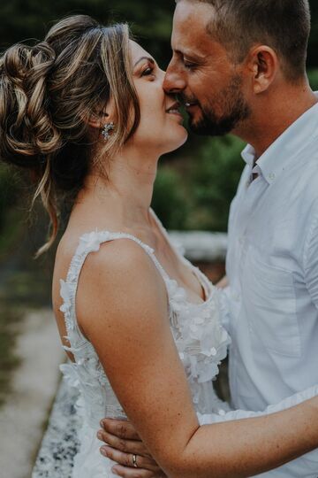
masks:
<path fill-rule="evenodd" d="M 208 32 L 210 4 L 181 0 L 173 19 L 173 56 L 163 88 L 186 104 L 190 127 L 199 135 L 235 132 L 249 116 L 244 73 Z"/>

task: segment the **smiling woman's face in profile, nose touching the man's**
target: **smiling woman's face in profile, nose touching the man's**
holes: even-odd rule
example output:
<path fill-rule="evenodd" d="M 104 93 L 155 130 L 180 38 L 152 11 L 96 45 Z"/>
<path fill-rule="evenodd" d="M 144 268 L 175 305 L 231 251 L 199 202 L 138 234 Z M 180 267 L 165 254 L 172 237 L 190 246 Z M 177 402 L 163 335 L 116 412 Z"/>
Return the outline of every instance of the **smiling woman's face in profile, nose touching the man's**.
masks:
<path fill-rule="evenodd" d="M 164 154 L 186 142 L 187 132 L 178 101 L 163 91 L 164 72 L 154 58 L 131 42 L 133 82 L 140 102 L 140 125 L 132 141 Z"/>

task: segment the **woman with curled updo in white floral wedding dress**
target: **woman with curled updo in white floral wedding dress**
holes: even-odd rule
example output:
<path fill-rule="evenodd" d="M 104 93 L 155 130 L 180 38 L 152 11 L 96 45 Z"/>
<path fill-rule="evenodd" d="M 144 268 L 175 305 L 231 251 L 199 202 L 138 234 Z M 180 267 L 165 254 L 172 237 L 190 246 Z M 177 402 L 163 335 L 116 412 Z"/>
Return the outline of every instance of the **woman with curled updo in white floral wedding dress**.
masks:
<path fill-rule="evenodd" d="M 187 136 L 154 58 L 125 25 L 73 16 L 33 48 L 7 50 L 0 72 L 1 157 L 32 172 L 51 218 L 39 252 L 57 236 L 58 204 L 73 198 L 53 277 L 72 360 L 64 374 L 82 404 L 73 478 L 114 475 L 96 437 L 104 416 L 129 417 L 175 478 L 251 476 L 314 450 L 317 398 L 229 420 L 235 412 L 216 397 L 211 380 L 230 343 L 219 292 L 150 208 L 158 158 Z M 200 426 L 197 413 L 215 423 Z"/>

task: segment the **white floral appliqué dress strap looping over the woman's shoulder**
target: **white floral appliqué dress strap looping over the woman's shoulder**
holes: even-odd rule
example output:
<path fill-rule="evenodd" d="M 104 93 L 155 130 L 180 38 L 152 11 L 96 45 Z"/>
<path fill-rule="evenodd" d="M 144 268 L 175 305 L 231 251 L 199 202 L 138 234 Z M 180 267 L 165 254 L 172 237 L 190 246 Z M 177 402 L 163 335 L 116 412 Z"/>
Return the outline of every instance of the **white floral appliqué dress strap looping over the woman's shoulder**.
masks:
<path fill-rule="evenodd" d="M 154 249 L 148 246 L 148 244 L 145 244 L 140 241 L 138 237 L 122 232 L 110 231 L 93 231 L 91 233 L 81 235 L 79 238 L 79 245 L 77 247 L 77 250 L 72 257 L 71 265 L 66 276 L 66 281 L 63 281 L 62 279 L 60 280 L 60 295 L 63 299 L 63 304 L 60 307 L 60 311 L 64 312 L 65 328 L 68 334 L 67 338 L 69 339 L 73 330 L 77 329 L 77 332 L 79 333 L 79 327 L 77 324 L 75 313 L 75 298 L 79 282 L 79 274 L 82 266 L 84 265 L 85 259 L 90 252 L 99 251 L 102 243 L 114 241 L 117 239 L 130 239 L 133 242 L 138 243 L 140 247 L 142 247 L 142 249 L 153 260 L 155 267 L 162 275 L 163 281 L 165 282 L 166 287 L 169 290 L 169 276 L 164 271 L 163 266 L 161 266 L 158 259 L 155 257 Z M 86 340 L 83 335 L 81 335 L 81 338 L 84 341 Z"/>

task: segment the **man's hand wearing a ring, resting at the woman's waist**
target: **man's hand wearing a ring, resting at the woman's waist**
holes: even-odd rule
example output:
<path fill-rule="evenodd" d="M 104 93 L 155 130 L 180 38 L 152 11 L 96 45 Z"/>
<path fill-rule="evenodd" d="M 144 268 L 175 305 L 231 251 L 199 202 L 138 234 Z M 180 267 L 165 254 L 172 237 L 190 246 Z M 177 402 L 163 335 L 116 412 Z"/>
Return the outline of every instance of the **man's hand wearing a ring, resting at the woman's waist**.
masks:
<path fill-rule="evenodd" d="M 124 420 L 104 419 L 97 437 L 106 443 L 101 447 L 103 456 L 117 462 L 113 467 L 123 478 L 164 478 L 165 474 L 150 455 L 132 423 Z M 134 463 L 136 466 L 134 466 Z"/>

